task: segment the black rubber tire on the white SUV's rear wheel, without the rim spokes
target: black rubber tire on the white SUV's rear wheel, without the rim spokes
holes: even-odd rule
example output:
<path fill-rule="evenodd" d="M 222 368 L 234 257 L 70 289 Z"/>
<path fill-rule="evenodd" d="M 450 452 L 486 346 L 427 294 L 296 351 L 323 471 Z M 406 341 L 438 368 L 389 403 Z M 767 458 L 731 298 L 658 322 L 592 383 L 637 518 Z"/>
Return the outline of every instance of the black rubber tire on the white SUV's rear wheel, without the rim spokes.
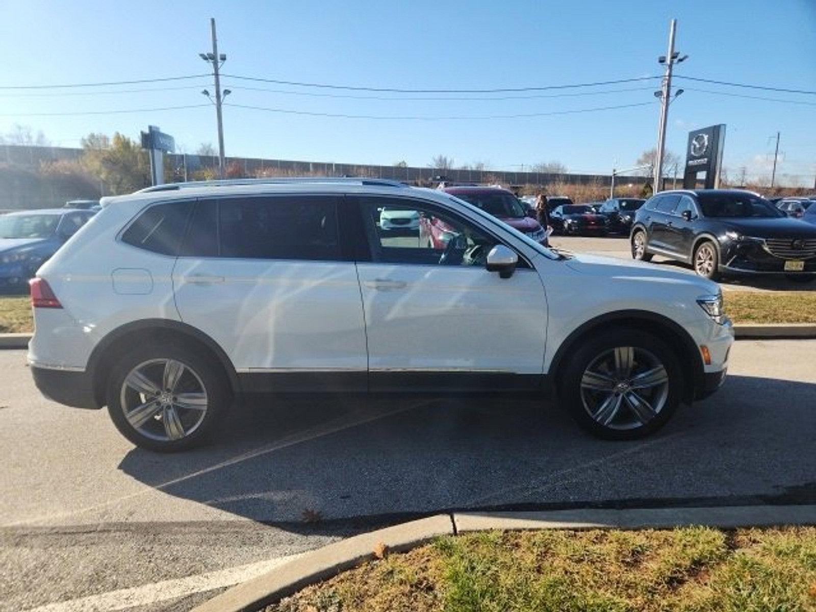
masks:
<path fill-rule="evenodd" d="M 125 379 L 128 375 L 131 375 L 131 371 L 137 366 L 142 366 L 143 370 L 140 370 L 140 373 L 144 374 L 147 371 L 144 368 L 152 369 L 150 381 L 158 381 L 160 377 L 159 370 L 164 371 L 166 368 L 166 365 L 162 366 L 162 361 L 169 360 L 182 364 L 184 368 L 170 391 L 172 399 L 168 401 L 175 401 L 178 397 L 175 395 L 176 393 L 181 395 L 184 390 L 190 388 L 197 390 L 198 386 L 203 388 L 204 399 L 200 399 L 202 393 L 186 394 L 188 397 L 197 396 L 195 400 L 190 399 L 188 402 L 191 406 L 193 404 L 198 406 L 195 410 L 184 408 L 181 403 L 184 400 L 181 397 L 179 397 L 180 403 L 178 405 L 170 404 L 166 406 L 168 410 L 171 407 L 173 408 L 177 415 L 177 422 L 181 425 L 181 432 L 184 432 L 185 429 L 188 432 L 184 432 L 183 437 L 178 439 L 168 437 L 168 439 L 163 440 L 160 439 L 162 437 L 162 428 L 164 428 L 165 432 L 171 431 L 163 423 L 166 414 L 163 411 L 164 409 L 159 408 L 155 415 L 145 419 L 142 426 L 143 432 L 140 428 L 136 428 L 131 424 L 131 421 L 126 417 L 126 406 L 123 405 L 123 398 L 125 402 L 135 404 L 141 402 L 141 406 L 152 403 L 155 406 L 158 401 L 157 397 L 153 397 L 149 393 L 136 391 L 131 386 L 125 387 Z M 133 349 L 113 365 L 108 381 L 106 399 L 110 418 L 124 437 L 140 448 L 169 453 L 188 450 L 206 442 L 228 410 L 232 401 L 232 392 L 220 364 L 211 358 L 202 356 L 200 351 L 197 352 L 183 344 L 153 344 L 152 346 Z M 205 410 L 200 407 L 199 402 L 201 401 L 206 402 Z M 202 411 L 203 415 L 200 415 Z M 132 412 L 130 414 L 132 415 Z M 174 431 L 177 432 L 178 430 Z M 169 436 L 169 434 L 167 435 Z"/>

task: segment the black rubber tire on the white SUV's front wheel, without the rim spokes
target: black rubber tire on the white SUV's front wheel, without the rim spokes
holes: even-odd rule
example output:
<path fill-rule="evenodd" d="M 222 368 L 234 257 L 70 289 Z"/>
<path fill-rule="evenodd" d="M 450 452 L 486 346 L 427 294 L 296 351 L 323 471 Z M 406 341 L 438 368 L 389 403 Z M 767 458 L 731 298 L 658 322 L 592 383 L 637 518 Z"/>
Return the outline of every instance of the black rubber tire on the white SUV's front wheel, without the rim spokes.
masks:
<path fill-rule="evenodd" d="M 632 350 L 633 366 L 630 377 L 636 379 L 637 375 L 652 367 L 657 370 L 658 366 L 663 366 L 663 373 L 659 375 L 665 375 L 665 381 L 662 380 L 653 388 L 635 387 L 627 391 L 619 384 L 614 384 L 614 387 L 604 391 L 584 386 L 584 375 L 588 370 L 598 372 L 606 358 L 611 358 L 617 363 L 618 351 L 625 352 L 628 349 Z M 612 357 L 605 357 L 610 352 Z M 645 331 L 622 328 L 596 335 L 586 342 L 581 342 L 574 353 L 565 357 L 563 363 L 564 367 L 559 373 L 558 389 L 561 404 L 569 410 L 570 415 L 583 429 L 605 440 L 635 440 L 656 432 L 671 419 L 683 397 L 685 379 L 678 356 L 663 340 Z M 616 379 L 617 376 L 613 373 L 608 378 Z M 589 383 L 593 381 L 592 378 L 586 380 Z M 632 392 L 634 399 L 630 401 Z M 595 412 L 598 415 L 604 401 L 610 397 L 613 398 L 612 406 L 617 402 L 617 407 L 614 408 L 612 420 L 608 424 L 602 424 L 593 417 L 591 411 L 598 409 Z M 641 404 L 640 410 L 648 413 L 648 416 L 638 417 L 636 404 L 644 400 L 645 406 L 654 407 L 656 410 L 652 410 L 654 412 L 652 414 Z"/>

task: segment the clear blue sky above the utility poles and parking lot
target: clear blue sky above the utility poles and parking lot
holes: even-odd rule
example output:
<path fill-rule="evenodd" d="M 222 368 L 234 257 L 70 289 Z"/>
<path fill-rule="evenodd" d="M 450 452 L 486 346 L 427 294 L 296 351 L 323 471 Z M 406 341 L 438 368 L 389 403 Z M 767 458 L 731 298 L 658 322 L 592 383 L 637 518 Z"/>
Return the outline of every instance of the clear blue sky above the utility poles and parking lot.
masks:
<path fill-rule="evenodd" d="M 549 86 L 661 73 L 668 23 L 677 50 L 690 55 L 678 74 L 816 90 L 816 0 L 548 0 L 503 2 L 40 2 L 2 0 L 0 86 L 105 82 L 206 73 L 209 18 L 228 55 L 224 73 L 295 82 L 401 89 Z M 457 165 L 506 170 L 558 160 L 570 171 L 634 165 L 654 146 L 658 81 L 538 92 L 581 93 L 512 100 L 416 100 L 446 95 L 379 94 L 337 98 L 297 86 L 225 77 L 227 102 L 313 113 L 448 117 L 436 121 L 328 118 L 225 107 L 228 156 L 425 166 L 439 153 Z M 264 87 L 276 91 L 254 91 Z M 677 79 L 668 149 L 685 150 L 687 132 L 727 124 L 725 166 L 769 174 L 771 136 L 782 132 L 780 172 L 812 185 L 816 175 L 816 95 L 752 91 Z M 90 131 L 136 137 L 149 123 L 188 152 L 215 144 L 215 109 L 45 117 L 208 104 L 211 79 L 134 86 L 0 90 L 0 132 L 32 126 L 55 144 L 78 146 Z M 243 88 L 242 88 L 243 87 Z M 156 91 L 133 91 L 153 89 Z M 791 104 L 715 95 L 709 90 L 793 100 Z M 128 90 L 122 93 L 122 90 Z M 626 91 L 623 91 L 626 90 Z M 634 91 L 632 91 L 634 90 Z M 112 93 L 119 91 L 119 93 Z M 535 92 L 533 92 L 535 93 Z M 368 94 L 370 95 L 370 94 Z M 521 94 L 516 94 L 521 95 Z M 528 92 L 526 95 L 530 95 Z M 506 97 L 507 95 L 505 95 Z M 395 99 L 395 98 L 402 99 Z M 405 100 L 404 98 L 412 98 Z M 645 103 L 626 109 L 527 118 Z M 648 104 L 650 103 L 650 104 Z"/>

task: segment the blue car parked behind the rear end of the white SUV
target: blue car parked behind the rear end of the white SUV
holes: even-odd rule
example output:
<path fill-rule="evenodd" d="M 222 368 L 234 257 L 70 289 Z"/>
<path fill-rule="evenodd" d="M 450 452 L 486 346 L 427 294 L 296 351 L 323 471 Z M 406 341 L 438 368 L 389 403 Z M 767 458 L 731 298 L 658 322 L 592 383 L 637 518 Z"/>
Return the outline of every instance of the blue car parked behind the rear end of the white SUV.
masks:
<path fill-rule="evenodd" d="M 42 263 L 95 213 L 55 208 L 0 215 L 0 292 L 27 291 Z"/>

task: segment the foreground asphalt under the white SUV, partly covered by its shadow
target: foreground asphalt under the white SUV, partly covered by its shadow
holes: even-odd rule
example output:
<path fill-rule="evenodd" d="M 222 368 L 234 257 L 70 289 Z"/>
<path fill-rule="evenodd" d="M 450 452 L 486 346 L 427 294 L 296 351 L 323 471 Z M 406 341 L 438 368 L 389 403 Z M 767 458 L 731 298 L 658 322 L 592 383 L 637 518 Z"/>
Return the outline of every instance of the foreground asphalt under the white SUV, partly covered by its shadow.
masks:
<path fill-rule="evenodd" d="M 659 435 L 508 397 L 238 406 L 215 446 L 137 450 L 0 352 L 0 610 L 187 610 L 276 557 L 454 508 L 816 502 L 816 341 L 740 341 Z M 115 604 L 115 605 L 114 605 Z"/>

